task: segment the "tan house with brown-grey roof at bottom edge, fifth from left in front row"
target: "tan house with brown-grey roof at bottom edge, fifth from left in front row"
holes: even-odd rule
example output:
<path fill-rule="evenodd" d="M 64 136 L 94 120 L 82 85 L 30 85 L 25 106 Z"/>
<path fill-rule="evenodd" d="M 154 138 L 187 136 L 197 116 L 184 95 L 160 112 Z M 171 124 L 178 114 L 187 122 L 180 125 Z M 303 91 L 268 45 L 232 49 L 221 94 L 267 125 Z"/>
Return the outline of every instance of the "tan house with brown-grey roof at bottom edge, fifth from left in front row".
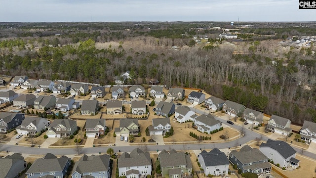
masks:
<path fill-rule="evenodd" d="M 158 155 L 162 177 L 193 178 L 192 162 L 189 155 L 171 149 L 169 152 L 162 150 Z"/>

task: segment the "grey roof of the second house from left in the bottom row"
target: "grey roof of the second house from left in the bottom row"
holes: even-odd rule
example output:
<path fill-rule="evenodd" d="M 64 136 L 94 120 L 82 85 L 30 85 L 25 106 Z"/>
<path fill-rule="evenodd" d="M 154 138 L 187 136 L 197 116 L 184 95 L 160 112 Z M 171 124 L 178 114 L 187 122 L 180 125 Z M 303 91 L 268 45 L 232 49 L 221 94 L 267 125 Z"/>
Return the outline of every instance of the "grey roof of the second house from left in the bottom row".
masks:
<path fill-rule="evenodd" d="M 50 153 L 47 153 L 50 154 Z M 37 159 L 32 166 L 29 168 L 29 170 L 26 172 L 26 174 L 29 173 L 41 173 L 41 172 L 57 172 L 57 171 L 63 171 L 65 166 L 67 165 L 67 162 L 70 158 L 67 156 L 61 156 L 60 158 L 56 158 L 50 155 L 45 155 L 43 158 Z"/>

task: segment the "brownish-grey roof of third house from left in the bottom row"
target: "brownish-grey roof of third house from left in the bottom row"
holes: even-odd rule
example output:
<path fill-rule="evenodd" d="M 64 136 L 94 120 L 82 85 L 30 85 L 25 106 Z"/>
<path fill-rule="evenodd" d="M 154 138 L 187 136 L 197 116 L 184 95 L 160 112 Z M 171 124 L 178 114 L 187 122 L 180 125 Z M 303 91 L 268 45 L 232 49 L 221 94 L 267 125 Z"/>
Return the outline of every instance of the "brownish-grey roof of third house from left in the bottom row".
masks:
<path fill-rule="evenodd" d="M 100 172 L 100 171 L 110 171 L 109 169 L 110 156 L 104 155 L 83 155 L 79 161 L 76 162 L 73 173 L 77 171 L 79 174 Z"/>

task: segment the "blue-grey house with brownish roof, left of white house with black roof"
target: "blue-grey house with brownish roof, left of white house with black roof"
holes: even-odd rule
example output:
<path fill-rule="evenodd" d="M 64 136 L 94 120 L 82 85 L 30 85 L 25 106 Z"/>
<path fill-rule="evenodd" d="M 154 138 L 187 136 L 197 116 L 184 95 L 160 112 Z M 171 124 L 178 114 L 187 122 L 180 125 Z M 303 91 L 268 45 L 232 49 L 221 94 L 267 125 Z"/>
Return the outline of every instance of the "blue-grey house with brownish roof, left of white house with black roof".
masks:
<path fill-rule="evenodd" d="M 248 145 L 243 146 L 240 151 L 233 150 L 229 154 L 229 161 L 237 165 L 242 173 L 271 173 L 272 166 L 268 162 L 268 157 L 256 148 Z"/>

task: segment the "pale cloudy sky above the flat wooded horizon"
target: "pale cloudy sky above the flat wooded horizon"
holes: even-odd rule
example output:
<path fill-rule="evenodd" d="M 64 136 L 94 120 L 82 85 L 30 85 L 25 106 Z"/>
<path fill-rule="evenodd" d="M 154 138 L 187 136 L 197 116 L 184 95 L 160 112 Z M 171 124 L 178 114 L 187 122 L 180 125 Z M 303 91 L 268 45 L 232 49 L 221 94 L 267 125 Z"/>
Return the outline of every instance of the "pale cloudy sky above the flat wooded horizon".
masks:
<path fill-rule="evenodd" d="M 0 22 L 316 21 L 298 0 L 0 0 Z"/>

